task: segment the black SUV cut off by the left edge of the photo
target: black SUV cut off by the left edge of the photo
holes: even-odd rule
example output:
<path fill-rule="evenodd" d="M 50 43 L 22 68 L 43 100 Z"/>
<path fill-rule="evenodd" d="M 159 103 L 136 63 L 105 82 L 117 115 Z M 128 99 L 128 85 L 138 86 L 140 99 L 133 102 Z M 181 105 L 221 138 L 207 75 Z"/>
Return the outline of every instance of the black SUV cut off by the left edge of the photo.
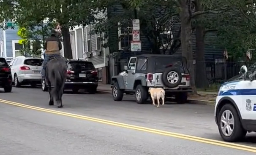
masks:
<path fill-rule="evenodd" d="M 0 57 L 0 87 L 4 88 L 6 93 L 9 93 L 12 89 L 11 83 L 11 68 L 5 58 Z"/>

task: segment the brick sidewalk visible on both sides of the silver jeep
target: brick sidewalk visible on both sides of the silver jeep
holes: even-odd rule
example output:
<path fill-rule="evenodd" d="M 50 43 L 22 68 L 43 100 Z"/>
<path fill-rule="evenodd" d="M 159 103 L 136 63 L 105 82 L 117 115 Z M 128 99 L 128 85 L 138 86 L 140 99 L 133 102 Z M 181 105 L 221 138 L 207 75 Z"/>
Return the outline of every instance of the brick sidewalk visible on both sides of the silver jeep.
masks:
<path fill-rule="evenodd" d="M 98 93 L 112 94 L 111 85 L 99 85 Z M 197 91 L 200 96 L 188 96 L 188 103 L 201 105 L 214 105 L 217 92 Z"/>

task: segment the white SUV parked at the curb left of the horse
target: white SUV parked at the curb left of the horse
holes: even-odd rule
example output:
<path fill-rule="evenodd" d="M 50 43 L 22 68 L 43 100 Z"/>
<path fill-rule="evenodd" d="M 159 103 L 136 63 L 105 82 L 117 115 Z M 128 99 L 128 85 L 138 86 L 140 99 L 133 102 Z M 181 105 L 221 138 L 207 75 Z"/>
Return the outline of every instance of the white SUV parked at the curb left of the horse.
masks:
<path fill-rule="evenodd" d="M 30 84 L 36 87 L 41 83 L 41 69 L 43 59 L 40 57 L 17 56 L 9 66 L 15 87 Z"/>

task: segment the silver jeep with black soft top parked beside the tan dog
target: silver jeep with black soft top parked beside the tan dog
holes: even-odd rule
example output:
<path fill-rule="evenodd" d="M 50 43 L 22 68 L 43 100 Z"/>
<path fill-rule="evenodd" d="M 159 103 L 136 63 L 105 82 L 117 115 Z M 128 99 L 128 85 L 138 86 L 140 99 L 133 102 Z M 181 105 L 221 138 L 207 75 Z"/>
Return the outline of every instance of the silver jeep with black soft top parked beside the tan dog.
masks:
<path fill-rule="evenodd" d="M 178 103 L 185 103 L 190 86 L 186 59 L 172 55 L 140 55 L 130 58 L 125 71 L 112 77 L 114 101 L 122 101 L 123 94 L 136 94 L 142 104 L 149 98 L 148 88 L 163 88 L 166 97 L 174 96 Z"/>

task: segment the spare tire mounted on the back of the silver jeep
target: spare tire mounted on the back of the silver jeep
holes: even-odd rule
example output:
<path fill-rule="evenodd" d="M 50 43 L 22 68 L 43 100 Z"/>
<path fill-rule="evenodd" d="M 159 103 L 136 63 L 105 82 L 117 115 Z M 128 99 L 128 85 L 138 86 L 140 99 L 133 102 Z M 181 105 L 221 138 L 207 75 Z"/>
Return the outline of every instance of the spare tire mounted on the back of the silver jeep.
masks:
<path fill-rule="evenodd" d="M 180 69 L 176 67 L 168 67 L 163 71 L 162 82 L 166 87 L 174 88 L 179 86 L 181 79 Z"/>

